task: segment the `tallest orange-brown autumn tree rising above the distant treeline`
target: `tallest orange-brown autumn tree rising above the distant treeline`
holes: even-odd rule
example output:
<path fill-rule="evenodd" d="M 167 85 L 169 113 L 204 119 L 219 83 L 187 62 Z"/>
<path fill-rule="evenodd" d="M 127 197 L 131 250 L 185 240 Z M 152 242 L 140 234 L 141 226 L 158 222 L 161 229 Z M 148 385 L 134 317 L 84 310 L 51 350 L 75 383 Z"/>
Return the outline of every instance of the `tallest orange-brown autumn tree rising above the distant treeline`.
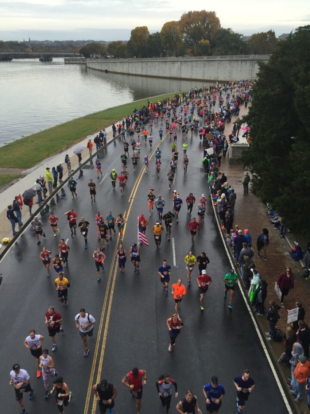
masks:
<path fill-rule="evenodd" d="M 210 42 L 219 27 L 220 22 L 216 13 L 206 10 L 184 13 L 180 19 L 180 31 L 184 34 L 188 45 L 193 45 L 196 56 L 201 53 L 199 42 L 201 40 Z"/>

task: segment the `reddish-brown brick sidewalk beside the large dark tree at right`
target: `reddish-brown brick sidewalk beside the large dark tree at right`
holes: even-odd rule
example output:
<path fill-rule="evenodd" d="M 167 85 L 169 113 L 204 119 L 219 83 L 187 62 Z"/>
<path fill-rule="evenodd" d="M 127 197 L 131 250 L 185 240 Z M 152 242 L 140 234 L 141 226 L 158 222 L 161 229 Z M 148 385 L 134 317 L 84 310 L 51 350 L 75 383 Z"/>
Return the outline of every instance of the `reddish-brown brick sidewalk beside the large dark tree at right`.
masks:
<path fill-rule="evenodd" d="M 242 110 L 243 113 L 240 111 L 240 117 L 244 115 L 244 108 L 242 108 Z M 232 129 L 233 124 L 228 124 L 225 128 L 225 135 L 228 136 L 228 134 L 232 132 Z M 294 289 L 291 290 L 289 292 L 289 295 L 284 299 L 285 309 L 281 308 L 279 310 L 280 319 L 276 326 L 276 328 L 281 329 L 283 334 L 285 334 L 285 329 L 288 326 L 287 309 L 295 308 L 295 302 L 297 300 L 300 300 L 303 307 L 305 308 L 306 323 L 308 322 L 308 317 L 310 315 L 310 284 L 300 276 L 300 273 L 303 271 L 300 263 L 294 262 L 288 254 L 288 251 L 294 244 L 294 234 L 287 233 L 286 238 L 280 238 L 279 230 L 272 225 L 271 221 L 268 218 L 268 215 L 266 215 L 266 205 L 263 204 L 256 196 L 250 192 L 247 196 L 243 196 L 242 179 L 244 177 L 245 170 L 243 169 L 242 165 L 229 165 L 228 158 L 222 158 L 221 167 L 219 169 L 225 173 L 228 179 L 228 183 L 232 186 L 232 188 L 234 188 L 235 193 L 237 194 L 234 209 L 233 226 L 238 224 L 242 230 L 248 229 L 249 233 L 252 236 L 252 248 L 255 253 L 253 259 L 257 270 L 261 274 L 261 277 L 268 282 L 267 298 L 265 300 L 266 309 L 269 308 L 270 300 L 276 300 L 277 303 L 279 303 L 279 299 L 274 290 L 275 282 L 277 281 L 279 274 L 285 270 L 286 266 L 290 266 L 292 268 L 295 276 Z M 263 257 L 257 256 L 256 248 L 257 236 L 262 232 L 263 228 L 269 230 L 270 244 L 267 250 L 267 262 L 263 261 Z M 255 308 L 253 308 L 253 311 L 254 309 Z M 258 321 L 258 324 L 261 326 L 262 332 L 269 331 L 269 324 L 266 320 L 266 315 L 254 315 L 254 317 Z M 267 343 L 267 349 L 269 349 L 268 345 L 274 353 L 276 360 L 278 360 L 279 356 L 282 354 L 282 352 L 284 352 L 283 345 L 281 343 L 269 341 Z M 279 369 L 284 375 L 285 382 L 287 382 L 287 377 L 291 376 L 291 369 L 286 368 L 282 364 L 279 364 Z M 288 387 L 285 391 L 288 398 L 293 398 L 293 396 L 290 396 L 288 392 Z M 307 411 L 306 398 L 304 398 L 304 400 L 298 404 L 298 407 L 296 405 L 295 410 L 296 413 Z"/>

